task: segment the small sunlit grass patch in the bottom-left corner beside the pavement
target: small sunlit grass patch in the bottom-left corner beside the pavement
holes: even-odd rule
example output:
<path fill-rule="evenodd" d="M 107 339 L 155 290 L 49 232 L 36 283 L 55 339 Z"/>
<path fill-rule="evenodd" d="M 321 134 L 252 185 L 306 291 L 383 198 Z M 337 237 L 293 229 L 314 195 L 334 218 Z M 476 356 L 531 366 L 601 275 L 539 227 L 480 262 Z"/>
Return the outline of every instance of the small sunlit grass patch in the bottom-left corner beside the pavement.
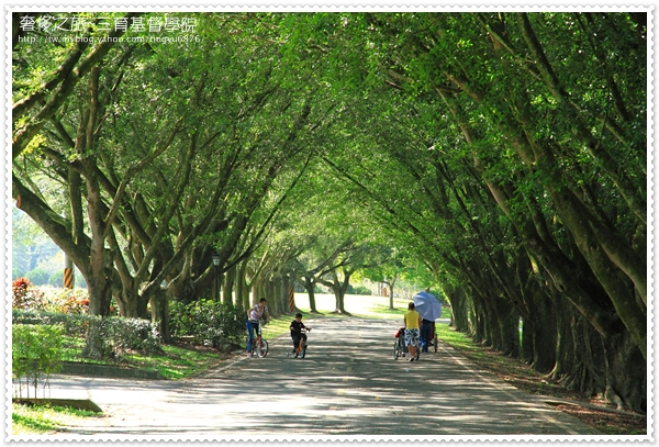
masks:
<path fill-rule="evenodd" d="M 100 417 L 98 413 L 62 406 L 11 404 L 11 434 L 44 435 L 60 431 L 68 425 L 83 425 L 87 417 Z"/>

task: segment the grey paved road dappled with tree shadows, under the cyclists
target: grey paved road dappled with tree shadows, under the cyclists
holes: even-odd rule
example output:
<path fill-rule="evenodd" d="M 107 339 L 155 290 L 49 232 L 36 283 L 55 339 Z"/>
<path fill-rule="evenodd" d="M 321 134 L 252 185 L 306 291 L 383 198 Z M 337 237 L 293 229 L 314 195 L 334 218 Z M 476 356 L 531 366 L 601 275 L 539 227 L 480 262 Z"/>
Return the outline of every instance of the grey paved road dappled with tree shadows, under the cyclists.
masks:
<path fill-rule="evenodd" d="M 305 359 L 271 340 L 264 359 L 183 381 L 57 376 L 52 398 L 89 398 L 105 417 L 55 436 L 465 436 L 596 435 L 595 429 L 479 371 L 451 348 L 420 361 L 391 356 L 398 321 L 308 322 Z M 266 332 L 267 337 L 267 332 Z"/>

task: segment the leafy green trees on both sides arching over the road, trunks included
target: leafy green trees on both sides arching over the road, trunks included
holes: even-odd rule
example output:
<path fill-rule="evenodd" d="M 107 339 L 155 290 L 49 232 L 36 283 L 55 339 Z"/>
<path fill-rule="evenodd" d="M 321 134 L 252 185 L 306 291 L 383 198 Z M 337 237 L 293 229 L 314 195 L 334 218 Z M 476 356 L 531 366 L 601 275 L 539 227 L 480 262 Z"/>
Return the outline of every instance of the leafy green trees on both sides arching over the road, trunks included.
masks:
<path fill-rule="evenodd" d="M 86 25 L 13 13 L 12 197 L 91 314 L 169 343 L 174 303 L 279 315 L 323 284 L 346 313 L 353 278 L 404 279 L 474 342 L 647 411 L 646 10 L 62 16 Z"/>

